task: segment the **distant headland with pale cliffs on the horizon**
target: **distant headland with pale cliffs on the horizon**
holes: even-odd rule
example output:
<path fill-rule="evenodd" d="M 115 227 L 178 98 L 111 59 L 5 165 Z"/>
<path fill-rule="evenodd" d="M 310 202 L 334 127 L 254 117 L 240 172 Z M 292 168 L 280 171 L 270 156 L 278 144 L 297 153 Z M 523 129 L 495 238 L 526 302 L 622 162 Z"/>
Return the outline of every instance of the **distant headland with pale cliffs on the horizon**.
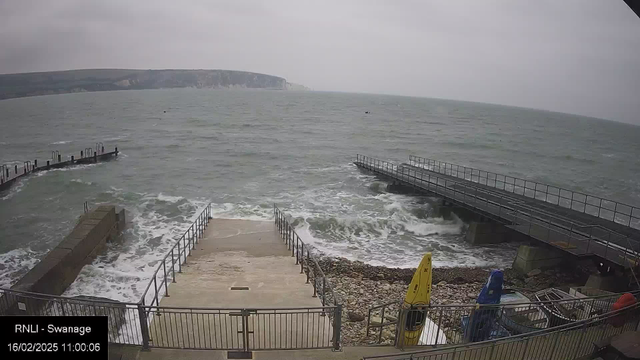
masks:
<path fill-rule="evenodd" d="M 88 91 L 165 88 L 309 90 L 266 74 L 235 70 L 82 69 L 0 75 L 0 100 Z"/>

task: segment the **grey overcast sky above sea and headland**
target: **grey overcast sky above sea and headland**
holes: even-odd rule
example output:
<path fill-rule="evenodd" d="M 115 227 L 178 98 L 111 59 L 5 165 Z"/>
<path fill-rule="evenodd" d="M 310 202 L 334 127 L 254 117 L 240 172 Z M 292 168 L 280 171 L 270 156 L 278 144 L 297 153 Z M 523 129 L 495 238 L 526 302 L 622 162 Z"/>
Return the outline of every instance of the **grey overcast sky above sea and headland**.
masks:
<path fill-rule="evenodd" d="M 640 19 L 622 0 L 0 0 L 0 73 L 77 68 L 247 70 L 640 124 Z"/>

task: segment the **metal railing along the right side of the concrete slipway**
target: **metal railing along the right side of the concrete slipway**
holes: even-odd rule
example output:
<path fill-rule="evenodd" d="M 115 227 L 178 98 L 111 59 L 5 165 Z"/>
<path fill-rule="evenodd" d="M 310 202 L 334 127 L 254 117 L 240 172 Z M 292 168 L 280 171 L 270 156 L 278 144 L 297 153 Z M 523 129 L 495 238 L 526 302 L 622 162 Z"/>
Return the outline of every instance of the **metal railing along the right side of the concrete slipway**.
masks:
<path fill-rule="evenodd" d="M 307 284 L 311 281 L 313 285 L 313 296 L 320 297 L 322 306 L 340 305 L 340 300 L 336 298 L 331 282 L 325 276 L 316 257 L 311 253 L 311 247 L 300 239 L 286 215 L 275 204 L 273 205 L 273 213 L 276 228 L 287 245 L 287 249 L 291 251 L 291 256 L 296 258 L 296 265 L 300 265 L 300 273 L 305 273 Z"/>

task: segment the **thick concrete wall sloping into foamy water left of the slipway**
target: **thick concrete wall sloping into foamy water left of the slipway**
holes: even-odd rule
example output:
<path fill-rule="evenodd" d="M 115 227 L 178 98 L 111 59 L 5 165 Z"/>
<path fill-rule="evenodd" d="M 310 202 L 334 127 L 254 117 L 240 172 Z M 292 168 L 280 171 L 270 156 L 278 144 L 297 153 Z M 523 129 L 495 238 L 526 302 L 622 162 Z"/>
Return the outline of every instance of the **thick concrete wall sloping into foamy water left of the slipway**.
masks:
<path fill-rule="evenodd" d="M 62 294 L 106 242 L 118 238 L 123 226 L 124 210 L 116 214 L 115 206 L 100 206 L 83 215 L 71 233 L 11 289 Z"/>

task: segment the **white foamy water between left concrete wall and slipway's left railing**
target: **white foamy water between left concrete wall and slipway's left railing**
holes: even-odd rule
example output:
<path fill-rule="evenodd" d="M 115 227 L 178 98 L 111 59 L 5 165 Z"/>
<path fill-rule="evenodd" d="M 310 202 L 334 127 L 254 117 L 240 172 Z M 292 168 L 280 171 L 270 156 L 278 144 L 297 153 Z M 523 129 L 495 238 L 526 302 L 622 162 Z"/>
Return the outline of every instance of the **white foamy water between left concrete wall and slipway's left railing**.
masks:
<path fill-rule="evenodd" d="M 139 205 L 127 209 L 127 227 L 122 244 L 109 244 L 107 251 L 82 268 L 65 296 L 103 296 L 120 301 L 140 300 L 159 261 L 207 204 L 165 194 L 127 193 L 112 187 L 121 201 Z"/>

